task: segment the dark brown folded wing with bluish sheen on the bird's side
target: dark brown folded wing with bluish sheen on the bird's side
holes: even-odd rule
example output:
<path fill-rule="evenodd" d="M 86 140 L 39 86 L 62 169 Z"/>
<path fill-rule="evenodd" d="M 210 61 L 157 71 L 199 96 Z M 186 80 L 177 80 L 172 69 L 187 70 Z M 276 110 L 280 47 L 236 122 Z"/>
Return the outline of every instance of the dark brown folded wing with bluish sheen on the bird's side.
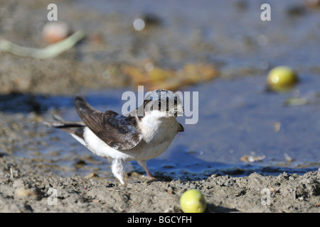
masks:
<path fill-rule="evenodd" d="M 75 97 L 75 109 L 85 125 L 114 149 L 132 149 L 141 140 L 135 116 L 126 117 L 114 111 L 97 111 L 80 96 Z"/>

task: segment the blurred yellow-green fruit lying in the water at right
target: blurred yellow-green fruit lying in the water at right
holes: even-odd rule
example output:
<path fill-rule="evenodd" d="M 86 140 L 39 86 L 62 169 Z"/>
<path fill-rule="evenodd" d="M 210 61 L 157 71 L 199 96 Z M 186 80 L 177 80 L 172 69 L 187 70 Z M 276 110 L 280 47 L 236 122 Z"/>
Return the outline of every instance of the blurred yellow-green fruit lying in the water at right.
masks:
<path fill-rule="evenodd" d="M 297 74 L 289 67 L 274 67 L 267 76 L 267 84 L 273 90 L 286 90 L 299 82 Z"/>

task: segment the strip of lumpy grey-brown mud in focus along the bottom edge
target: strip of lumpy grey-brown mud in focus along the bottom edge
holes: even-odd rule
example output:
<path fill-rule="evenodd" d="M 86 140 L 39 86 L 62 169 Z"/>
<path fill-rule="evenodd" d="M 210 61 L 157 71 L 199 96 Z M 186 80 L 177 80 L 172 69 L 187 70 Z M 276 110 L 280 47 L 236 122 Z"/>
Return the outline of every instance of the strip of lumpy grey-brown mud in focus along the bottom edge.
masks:
<path fill-rule="evenodd" d="M 149 182 L 136 173 L 127 186 L 99 176 L 60 177 L 28 158 L 1 154 L 1 212 L 182 212 L 179 199 L 200 190 L 206 212 L 319 212 L 320 171 L 277 177 L 212 175 L 201 181 Z M 131 174 L 133 175 L 133 174 Z M 89 179 L 88 179 L 89 178 Z M 140 178 L 140 180 L 139 180 Z"/>

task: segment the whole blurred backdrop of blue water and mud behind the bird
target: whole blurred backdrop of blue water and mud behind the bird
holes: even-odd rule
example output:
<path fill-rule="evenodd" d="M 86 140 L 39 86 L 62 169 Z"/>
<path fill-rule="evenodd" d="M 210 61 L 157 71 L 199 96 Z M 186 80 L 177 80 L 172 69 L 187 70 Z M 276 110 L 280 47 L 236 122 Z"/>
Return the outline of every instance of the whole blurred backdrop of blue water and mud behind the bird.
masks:
<path fill-rule="evenodd" d="M 120 113 L 122 93 L 144 85 L 199 94 L 198 123 L 179 118 L 185 132 L 148 162 L 159 178 L 317 170 L 319 48 L 316 0 L 0 1 L 0 157 L 112 178 L 107 160 L 42 121 L 78 120 L 75 94 Z M 281 65 L 299 82 L 272 90 L 267 77 Z M 144 172 L 136 162 L 126 170 Z"/>

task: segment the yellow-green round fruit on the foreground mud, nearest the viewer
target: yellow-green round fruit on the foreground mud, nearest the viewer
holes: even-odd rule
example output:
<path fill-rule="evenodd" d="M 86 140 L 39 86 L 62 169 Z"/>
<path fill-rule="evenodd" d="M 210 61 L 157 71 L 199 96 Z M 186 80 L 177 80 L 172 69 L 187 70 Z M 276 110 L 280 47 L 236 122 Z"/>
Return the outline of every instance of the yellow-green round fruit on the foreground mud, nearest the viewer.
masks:
<path fill-rule="evenodd" d="M 180 206 L 184 213 L 203 213 L 207 204 L 201 192 L 190 189 L 181 196 Z"/>

